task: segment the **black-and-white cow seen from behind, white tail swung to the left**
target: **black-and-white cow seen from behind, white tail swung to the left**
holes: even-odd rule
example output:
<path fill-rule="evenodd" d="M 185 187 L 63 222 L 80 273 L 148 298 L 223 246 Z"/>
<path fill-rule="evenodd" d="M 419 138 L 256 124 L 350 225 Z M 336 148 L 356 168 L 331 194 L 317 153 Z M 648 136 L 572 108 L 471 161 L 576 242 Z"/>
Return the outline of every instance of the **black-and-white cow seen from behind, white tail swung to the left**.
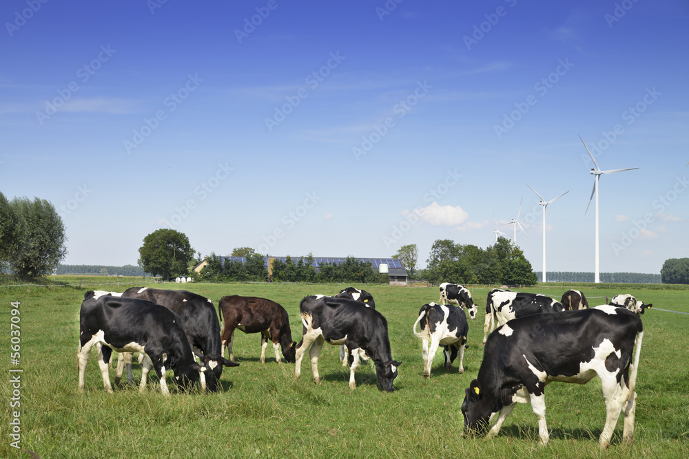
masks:
<path fill-rule="evenodd" d="M 420 332 L 416 331 L 416 325 L 421 323 Z M 452 305 L 440 305 L 436 303 L 424 304 L 419 310 L 419 318 L 416 319 L 413 332 L 422 340 L 424 377 L 431 377 L 431 365 L 438 345 L 444 346 L 445 368 L 450 371 L 452 362 L 460 354 L 460 373 L 464 373 L 464 345 L 469 334 L 469 325 L 466 323 L 466 314 L 462 308 Z M 429 341 L 431 348 L 429 349 Z"/>

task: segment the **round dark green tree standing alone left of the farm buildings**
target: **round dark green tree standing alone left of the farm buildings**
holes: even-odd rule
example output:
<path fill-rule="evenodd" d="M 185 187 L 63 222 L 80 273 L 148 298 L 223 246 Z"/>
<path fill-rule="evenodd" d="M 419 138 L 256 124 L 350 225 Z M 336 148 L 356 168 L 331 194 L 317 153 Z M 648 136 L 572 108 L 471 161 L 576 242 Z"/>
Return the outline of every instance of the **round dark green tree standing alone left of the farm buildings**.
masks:
<path fill-rule="evenodd" d="M 194 253 L 184 233 L 162 228 L 143 238 L 143 246 L 138 249 L 138 265 L 146 273 L 160 275 L 168 281 L 170 277 L 187 274 Z"/>

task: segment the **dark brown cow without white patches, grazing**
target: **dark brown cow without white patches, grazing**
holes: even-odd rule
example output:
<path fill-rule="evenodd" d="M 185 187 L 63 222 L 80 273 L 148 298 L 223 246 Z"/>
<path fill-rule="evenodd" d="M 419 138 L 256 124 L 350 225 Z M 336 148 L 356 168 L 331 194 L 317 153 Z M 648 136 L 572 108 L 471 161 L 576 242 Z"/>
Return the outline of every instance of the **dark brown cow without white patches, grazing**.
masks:
<path fill-rule="evenodd" d="M 265 363 L 265 348 L 268 346 L 268 340 L 273 341 L 275 359 L 278 363 L 282 363 L 278 351 L 280 347 L 287 363 L 294 363 L 296 341 L 292 341 L 287 311 L 278 303 L 265 298 L 229 295 L 220 299 L 218 312 L 225 322 L 221 336 L 223 356 L 225 349 L 228 349 L 229 359 L 234 361 L 232 343 L 234 330 L 238 328 L 245 333 L 261 334 L 260 363 Z"/>

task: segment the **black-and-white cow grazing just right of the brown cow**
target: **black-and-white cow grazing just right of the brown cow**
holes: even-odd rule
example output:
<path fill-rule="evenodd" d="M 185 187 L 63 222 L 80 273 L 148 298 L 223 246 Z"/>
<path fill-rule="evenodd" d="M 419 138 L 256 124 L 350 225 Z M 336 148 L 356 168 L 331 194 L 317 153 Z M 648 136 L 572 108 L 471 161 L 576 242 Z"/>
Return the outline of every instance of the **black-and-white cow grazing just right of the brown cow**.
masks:
<path fill-rule="evenodd" d="M 359 366 L 358 348 L 362 348 L 376 365 L 378 383 L 385 392 L 391 392 L 400 362 L 392 359 L 387 321 L 373 308 L 345 298 L 309 296 L 299 304 L 304 336 L 297 345 L 295 375 L 301 373 L 302 357 L 309 350 L 313 382 L 320 384 L 318 354 L 323 343 L 344 344 L 349 348 L 349 387 L 354 389 L 354 372 Z M 351 352 L 351 351 L 354 352 Z"/>

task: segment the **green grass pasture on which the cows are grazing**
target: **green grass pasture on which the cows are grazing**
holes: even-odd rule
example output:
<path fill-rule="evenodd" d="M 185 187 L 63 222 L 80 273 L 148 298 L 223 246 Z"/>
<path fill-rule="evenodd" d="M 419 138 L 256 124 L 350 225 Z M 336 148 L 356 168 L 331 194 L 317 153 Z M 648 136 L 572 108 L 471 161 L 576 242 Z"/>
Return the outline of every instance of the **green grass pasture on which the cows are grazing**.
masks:
<path fill-rule="evenodd" d="M 58 277 L 72 283 L 75 279 Z M 51 279 L 52 280 L 52 279 Z M 141 279 L 94 278 L 96 283 Z M 76 280 L 79 284 L 79 280 Z M 387 318 L 393 358 L 402 361 L 393 393 L 377 385 L 371 363 L 356 374 L 357 388 L 347 385 L 349 370 L 338 361 L 338 348 L 325 345 L 320 356 L 321 385 L 311 380 L 308 359 L 302 376 L 294 364 L 278 365 L 271 346 L 266 363 L 258 361 L 260 336 L 235 335 L 240 367 L 223 372 L 223 392 L 180 394 L 169 381 L 172 396 L 160 392 L 152 378 L 145 394 L 136 387 L 103 390 L 95 353 L 86 372 L 86 389 L 77 389 L 76 348 L 79 306 L 86 290 L 123 291 L 131 285 L 16 286 L 0 288 L 0 457 L 30 457 L 10 446 L 12 412 L 21 413 L 22 449 L 43 458 L 130 457 L 577 457 L 681 458 L 689 456 L 689 315 L 648 310 L 637 380 L 635 443 L 620 444 L 617 423 L 613 445 L 600 451 L 597 439 L 605 420 L 597 378 L 586 385 L 553 383 L 546 389 L 546 420 L 551 442 L 537 445 L 537 422 L 530 405 L 518 405 L 500 435 L 492 440 L 462 438 L 460 405 L 464 389 L 475 378 L 483 355 L 483 305 L 488 289 L 473 288 L 480 305 L 469 322 L 465 373 L 442 368 L 435 356 L 431 379 L 423 376 L 421 343 L 411 331 L 419 308 L 438 301 L 438 289 L 364 286 Z M 209 297 L 217 308 L 225 295 L 266 297 L 285 307 L 292 337 L 301 338 L 299 301 L 305 295 L 333 295 L 344 285 L 311 284 L 167 284 Z M 596 289 L 579 287 L 587 297 L 628 292 L 657 308 L 689 312 L 689 292 L 661 289 Z M 524 291 L 558 297 L 564 286 L 537 286 Z M 10 361 L 12 301 L 20 301 L 21 365 Z M 591 306 L 604 299 L 590 299 Z M 20 368 L 21 407 L 10 407 L 14 373 Z M 114 370 L 110 372 L 111 381 Z M 134 363 L 134 378 L 141 368 Z"/>

